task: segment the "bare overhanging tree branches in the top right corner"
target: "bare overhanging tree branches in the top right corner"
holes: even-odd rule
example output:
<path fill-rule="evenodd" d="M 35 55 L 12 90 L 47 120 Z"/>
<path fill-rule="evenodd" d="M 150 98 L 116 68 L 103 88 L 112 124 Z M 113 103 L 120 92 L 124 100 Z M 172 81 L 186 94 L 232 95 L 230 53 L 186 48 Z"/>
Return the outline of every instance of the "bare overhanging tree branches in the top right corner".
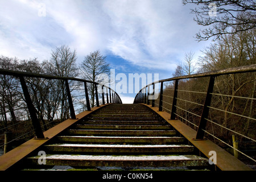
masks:
<path fill-rule="evenodd" d="M 236 34 L 256 27 L 256 2 L 254 0 L 183 0 L 183 4 L 199 5 L 199 9 L 192 9 L 196 14 L 194 20 L 205 30 L 196 34 L 198 41 L 214 37 L 220 38 L 224 34 Z M 210 14 L 213 13 L 213 14 Z"/>

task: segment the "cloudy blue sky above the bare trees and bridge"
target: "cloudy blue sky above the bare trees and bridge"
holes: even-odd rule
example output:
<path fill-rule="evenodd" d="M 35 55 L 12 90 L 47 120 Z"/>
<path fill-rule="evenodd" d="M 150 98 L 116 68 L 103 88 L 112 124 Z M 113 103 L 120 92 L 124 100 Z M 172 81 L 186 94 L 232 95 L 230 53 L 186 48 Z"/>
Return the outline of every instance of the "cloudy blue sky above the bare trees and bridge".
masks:
<path fill-rule="evenodd" d="M 170 78 L 186 52 L 196 60 L 209 46 L 193 38 L 203 27 L 191 8 L 177 0 L 0 0 L 0 55 L 43 61 L 66 45 L 77 65 L 100 50 L 115 75 Z M 136 94 L 119 96 L 132 103 Z"/>

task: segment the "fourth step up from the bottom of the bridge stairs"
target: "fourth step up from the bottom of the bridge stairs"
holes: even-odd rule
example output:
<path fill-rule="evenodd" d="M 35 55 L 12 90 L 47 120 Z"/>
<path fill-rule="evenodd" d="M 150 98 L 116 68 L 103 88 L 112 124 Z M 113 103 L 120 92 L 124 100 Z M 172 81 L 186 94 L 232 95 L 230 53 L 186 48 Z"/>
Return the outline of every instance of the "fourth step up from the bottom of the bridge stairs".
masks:
<path fill-rule="evenodd" d="M 134 136 L 166 136 L 175 135 L 175 130 L 67 130 L 69 135 L 134 135 Z"/>

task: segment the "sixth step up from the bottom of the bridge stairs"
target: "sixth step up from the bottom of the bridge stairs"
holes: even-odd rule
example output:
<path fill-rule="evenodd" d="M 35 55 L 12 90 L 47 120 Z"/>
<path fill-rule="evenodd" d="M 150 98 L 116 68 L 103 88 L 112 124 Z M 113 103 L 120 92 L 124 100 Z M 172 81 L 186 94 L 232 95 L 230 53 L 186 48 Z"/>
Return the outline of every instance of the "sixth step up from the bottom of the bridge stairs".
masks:
<path fill-rule="evenodd" d="M 88 120 L 82 121 L 81 125 L 166 125 L 167 122 L 163 121 L 99 121 L 99 120 Z"/>

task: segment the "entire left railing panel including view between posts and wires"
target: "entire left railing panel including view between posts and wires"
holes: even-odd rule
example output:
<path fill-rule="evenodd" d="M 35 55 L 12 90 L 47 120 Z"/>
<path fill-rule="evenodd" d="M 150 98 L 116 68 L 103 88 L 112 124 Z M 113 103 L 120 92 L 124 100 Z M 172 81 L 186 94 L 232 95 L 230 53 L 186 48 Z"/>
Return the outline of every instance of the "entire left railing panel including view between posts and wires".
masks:
<path fill-rule="evenodd" d="M 90 111 L 94 106 L 122 103 L 113 89 L 81 78 L 6 69 L 0 69 L 0 75 L 5 75 L 0 78 L 5 84 L 7 76 L 15 80 L 15 85 L 10 85 L 13 90 L 0 93 L 0 140 L 9 135 L 0 148 L 10 149 L 11 143 L 23 143 L 24 138 L 44 138 L 43 131 L 49 127 L 68 118 L 76 119 L 76 113 Z M 94 92 L 89 92 L 92 86 Z"/>

